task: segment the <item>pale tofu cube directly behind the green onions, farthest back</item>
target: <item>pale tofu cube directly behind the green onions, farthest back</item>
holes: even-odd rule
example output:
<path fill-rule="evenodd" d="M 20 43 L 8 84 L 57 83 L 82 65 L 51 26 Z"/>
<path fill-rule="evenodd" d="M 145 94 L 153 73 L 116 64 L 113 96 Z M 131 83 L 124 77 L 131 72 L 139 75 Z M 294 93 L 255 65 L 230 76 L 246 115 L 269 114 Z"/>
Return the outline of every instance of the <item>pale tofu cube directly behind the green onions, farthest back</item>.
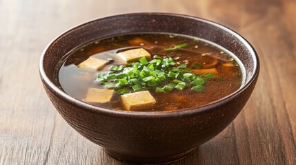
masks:
<path fill-rule="evenodd" d="M 126 61 L 126 63 L 132 62 L 132 61 L 138 61 L 139 58 L 143 56 L 146 57 L 148 60 L 151 59 L 151 54 L 147 52 L 147 50 L 144 50 L 143 48 L 127 50 L 124 52 L 120 52 L 117 55 L 120 56 L 122 60 Z"/>

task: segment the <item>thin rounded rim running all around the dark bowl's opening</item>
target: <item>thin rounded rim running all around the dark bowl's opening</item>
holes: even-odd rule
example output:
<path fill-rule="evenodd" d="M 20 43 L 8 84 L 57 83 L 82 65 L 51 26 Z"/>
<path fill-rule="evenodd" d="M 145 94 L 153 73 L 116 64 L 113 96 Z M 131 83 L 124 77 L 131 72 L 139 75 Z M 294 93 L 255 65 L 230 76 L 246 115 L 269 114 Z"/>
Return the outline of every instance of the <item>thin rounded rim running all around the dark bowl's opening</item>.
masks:
<path fill-rule="evenodd" d="M 250 75 L 250 80 L 246 80 L 244 85 L 241 85 L 241 87 L 239 89 L 237 89 L 233 93 L 229 94 L 228 96 L 225 96 L 224 98 L 220 98 L 219 100 L 215 100 L 214 102 L 210 102 L 208 104 L 201 105 L 199 107 L 191 107 L 188 109 L 178 109 L 178 110 L 174 110 L 174 111 L 123 111 L 123 110 L 114 110 L 114 109 L 106 109 L 103 107 L 98 107 L 98 106 L 83 102 L 77 98 L 74 98 L 74 97 L 66 94 L 66 92 L 59 89 L 59 87 L 57 87 L 54 83 L 52 83 L 52 81 L 50 81 L 48 76 L 46 76 L 46 73 L 45 73 L 44 67 L 43 67 L 44 56 L 45 56 L 46 52 L 48 51 L 48 49 L 57 40 L 59 40 L 60 38 L 62 38 L 66 34 L 68 34 L 68 32 L 71 32 L 72 30 L 76 30 L 78 28 L 83 27 L 84 25 L 87 25 L 87 24 L 90 24 L 90 23 L 93 23 L 96 21 L 102 21 L 102 20 L 112 19 L 112 18 L 116 18 L 116 17 L 127 17 L 127 16 L 132 17 L 132 16 L 136 16 L 136 15 L 139 16 L 139 15 L 151 15 L 151 14 L 168 16 L 168 17 L 182 17 L 182 18 L 187 18 L 187 19 L 193 19 L 196 21 L 201 21 L 203 23 L 213 25 L 223 31 L 226 31 L 226 32 L 232 34 L 235 38 L 237 38 L 239 41 L 241 41 L 241 43 L 243 43 L 246 46 L 248 52 L 251 54 L 251 58 L 254 61 L 254 72 Z M 99 19 L 94 19 L 92 21 L 86 21 L 85 23 L 82 23 L 80 25 L 76 25 L 75 27 L 70 28 L 70 29 L 66 30 L 65 32 L 62 32 L 61 34 L 59 34 L 55 39 L 53 39 L 52 41 L 50 41 L 50 43 L 48 43 L 48 45 L 46 46 L 46 48 L 43 50 L 43 52 L 41 54 L 41 57 L 39 60 L 39 75 L 40 75 L 40 78 L 43 81 L 43 83 L 46 83 L 46 85 L 48 87 L 50 87 L 53 91 L 55 91 L 55 94 L 59 94 L 59 96 L 61 96 L 62 98 L 65 98 L 68 102 L 72 102 L 73 104 L 75 104 L 75 106 L 81 107 L 81 111 L 82 111 L 82 109 L 83 110 L 87 109 L 88 111 L 92 111 L 95 113 L 100 112 L 100 113 L 106 113 L 106 114 L 112 114 L 112 115 L 124 115 L 124 116 L 130 116 L 130 117 L 137 116 L 137 117 L 145 117 L 145 118 L 150 118 L 150 117 L 155 118 L 155 117 L 179 116 L 179 115 L 186 115 L 186 114 L 188 115 L 191 113 L 203 113 L 206 111 L 210 111 L 210 109 L 214 109 L 215 107 L 218 107 L 221 104 L 226 104 L 226 102 L 237 97 L 243 91 L 248 89 L 248 87 L 250 87 L 250 85 L 252 85 L 253 83 L 256 82 L 257 77 L 259 76 L 259 67 L 260 67 L 259 56 L 257 55 L 257 52 L 255 51 L 254 47 L 246 39 L 244 39 L 243 36 L 241 36 L 240 34 L 235 32 L 234 30 L 227 28 L 224 25 L 221 25 L 221 24 L 216 23 L 214 21 L 209 21 L 207 19 L 201 19 L 199 17 L 194 17 L 194 16 L 190 16 L 190 15 L 186 15 L 186 14 L 177 14 L 177 13 L 169 13 L 169 12 L 131 12 L 131 13 L 124 13 L 124 14 L 114 14 L 111 16 L 101 17 Z"/>

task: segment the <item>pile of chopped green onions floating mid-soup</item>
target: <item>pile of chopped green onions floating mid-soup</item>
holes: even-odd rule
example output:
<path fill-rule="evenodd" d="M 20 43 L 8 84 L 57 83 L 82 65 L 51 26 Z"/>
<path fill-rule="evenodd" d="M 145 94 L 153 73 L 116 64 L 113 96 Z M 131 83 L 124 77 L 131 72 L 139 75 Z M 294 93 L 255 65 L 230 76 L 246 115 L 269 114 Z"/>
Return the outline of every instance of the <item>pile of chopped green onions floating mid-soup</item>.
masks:
<path fill-rule="evenodd" d="M 194 63 L 192 67 L 197 69 L 200 66 Z M 142 57 L 138 62 L 112 66 L 109 72 L 97 74 L 96 80 L 108 89 L 115 89 L 117 94 L 147 89 L 154 89 L 156 93 L 168 93 L 187 87 L 193 91 L 203 91 L 204 83 L 215 77 L 214 74 L 197 76 L 190 71 L 187 63 L 176 64 L 171 57 L 154 56 L 151 61 Z"/>

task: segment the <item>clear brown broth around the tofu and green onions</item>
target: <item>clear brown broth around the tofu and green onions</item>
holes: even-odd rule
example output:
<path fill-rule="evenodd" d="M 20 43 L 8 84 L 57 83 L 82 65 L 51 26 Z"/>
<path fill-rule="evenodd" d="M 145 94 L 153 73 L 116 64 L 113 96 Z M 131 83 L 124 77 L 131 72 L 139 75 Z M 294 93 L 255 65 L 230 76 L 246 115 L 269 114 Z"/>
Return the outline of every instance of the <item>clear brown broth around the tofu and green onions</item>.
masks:
<path fill-rule="evenodd" d="M 188 43 L 188 47 L 171 52 L 164 50 L 170 45 L 181 43 Z M 241 70 L 244 71 L 244 67 L 242 67 L 238 58 L 223 47 L 214 45 L 209 41 L 176 34 L 129 34 L 93 41 L 69 52 L 66 55 L 66 60 L 63 61 L 63 65 L 58 66 L 60 67 L 59 72 L 56 73 L 61 89 L 66 94 L 83 100 L 88 88 L 104 87 L 95 82 L 98 72 L 79 68 L 77 67 L 79 63 L 85 61 L 89 56 L 93 56 L 101 59 L 113 58 L 115 63 L 111 65 L 121 65 L 114 54 L 139 47 L 148 50 L 152 56 L 157 54 L 161 57 L 172 57 L 175 62 L 188 62 L 188 66 L 197 62 L 203 64 L 201 69 L 215 67 L 219 72 L 215 78 L 206 82 L 204 85 L 206 89 L 200 92 L 192 91 L 190 87 L 182 91 L 174 89 L 166 94 L 155 93 L 155 89 L 149 89 L 157 104 L 152 108 L 139 111 L 171 111 L 209 104 L 239 89 L 244 79 L 244 72 L 241 72 Z M 224 66 L 225 63 L 233 66 L 226 67 Z M 107 65 L 99 72 L 106 72 L 111 65 Z M 110 102 L 92 104 L 107 109 L 124 110 L 119 94 L 115 94 Z"/>

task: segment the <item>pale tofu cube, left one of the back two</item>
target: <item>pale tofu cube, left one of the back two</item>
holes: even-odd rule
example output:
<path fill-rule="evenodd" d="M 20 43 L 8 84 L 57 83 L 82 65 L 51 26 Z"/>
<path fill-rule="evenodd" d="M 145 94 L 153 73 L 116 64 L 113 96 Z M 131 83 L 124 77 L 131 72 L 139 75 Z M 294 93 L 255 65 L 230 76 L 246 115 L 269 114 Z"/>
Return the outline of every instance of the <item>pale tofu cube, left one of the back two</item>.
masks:
<path fill-rule="evenodd" d="M 103 67 L 105 67 L 107 63 L 108 61 L 106 60 L 90 57 L 86 59 L 86 61 L 83 61 L 82 63 L 77 65 L 77 67 L 85 67 L 88 69 L 100 70 L 103 69 Z"/>

